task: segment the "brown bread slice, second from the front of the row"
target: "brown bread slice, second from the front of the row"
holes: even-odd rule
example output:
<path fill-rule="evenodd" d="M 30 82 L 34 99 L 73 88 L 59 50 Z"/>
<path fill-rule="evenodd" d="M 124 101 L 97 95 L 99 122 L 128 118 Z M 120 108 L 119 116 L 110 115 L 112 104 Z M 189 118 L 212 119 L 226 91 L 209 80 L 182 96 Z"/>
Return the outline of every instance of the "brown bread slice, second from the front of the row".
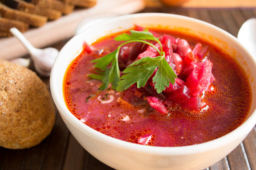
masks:
<path fill-rule="evenodd" d="M 34 26 L 34 27 L 41 27 L 47 22 L 47 18 L 45 16 L 38 16 L 36 14 L 18 11 L 5 6 L 1 2 L 0 2 L 0 15 L 3 18 L 23 21 L 24 23 L 28 23 L 29 26 Z"/>

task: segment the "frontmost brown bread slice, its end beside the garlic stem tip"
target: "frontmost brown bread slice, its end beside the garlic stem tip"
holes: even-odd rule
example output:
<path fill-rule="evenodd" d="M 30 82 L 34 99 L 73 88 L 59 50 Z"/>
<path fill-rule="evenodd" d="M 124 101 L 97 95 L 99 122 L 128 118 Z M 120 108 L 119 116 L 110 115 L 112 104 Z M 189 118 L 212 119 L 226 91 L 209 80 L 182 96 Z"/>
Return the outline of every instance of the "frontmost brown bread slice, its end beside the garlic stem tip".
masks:
<path fill-rule="evenodd" d="M 11 36 L 9 30 L 13 27 L 17 28 L 19 31 L 21 31 L 21 33 L 28 30 L 28 24 L 26 23 L 0 17 L 0 37 Z"/>

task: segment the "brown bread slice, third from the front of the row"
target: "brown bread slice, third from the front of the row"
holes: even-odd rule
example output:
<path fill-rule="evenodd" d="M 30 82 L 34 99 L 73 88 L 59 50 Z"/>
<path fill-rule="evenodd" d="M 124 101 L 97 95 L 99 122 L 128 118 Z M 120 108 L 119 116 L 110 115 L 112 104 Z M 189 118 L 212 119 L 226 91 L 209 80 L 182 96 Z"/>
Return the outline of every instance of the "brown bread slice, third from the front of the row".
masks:
<path fill-rule="evenodd" d="M 6 6 L 26 13 L 33 13 L 39 16 L 46 16 L 48 20 L 60 18 L 62 13 L 52 8 L 44 8 L 40 5 L 34 5 L 22 0 L 0 0 Z"/>

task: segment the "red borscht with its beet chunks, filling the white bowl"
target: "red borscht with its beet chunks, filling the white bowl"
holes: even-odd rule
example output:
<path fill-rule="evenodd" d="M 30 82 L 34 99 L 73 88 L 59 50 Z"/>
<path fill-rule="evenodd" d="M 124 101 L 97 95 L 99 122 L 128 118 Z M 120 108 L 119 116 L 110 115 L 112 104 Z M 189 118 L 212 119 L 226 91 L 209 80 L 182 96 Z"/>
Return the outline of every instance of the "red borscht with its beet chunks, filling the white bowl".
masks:
<path fill-rule="evenodd" d="M 143 28 L 135 26 L 134 30 Z M 90 46 L 85 43 L 68 67 L 63 93 L 70 112 L 105 135 L 140 145 L 196 145 L 238 128 L 252 98 L 249 81 L 239 64 L 207 40 L 160 28 L 150 32 L 163 45 L 165 60 L 176 74 L 174 84 L 160 93 L 156 91 L 152 77 L 159 65 L 141 88 L 135 83 L 117 91 L 107 84 L 100 90 L 102 81 L 88 76 L 100 72 L 91 61 L 114 52 L 124 42 L 114 38 L 130 33 L 127 30 L 108 35 Z M 146 41 L 159 47 L 154 40 Z M 156 53 L 143 42 L 123 45 L 118 54 L 121 76 L 129 64 L 144 57 L 155 59 Z M 111 67 L 113 62 L 107 66 Z M 140 69 L 137 74 L 141 74 Z"/>

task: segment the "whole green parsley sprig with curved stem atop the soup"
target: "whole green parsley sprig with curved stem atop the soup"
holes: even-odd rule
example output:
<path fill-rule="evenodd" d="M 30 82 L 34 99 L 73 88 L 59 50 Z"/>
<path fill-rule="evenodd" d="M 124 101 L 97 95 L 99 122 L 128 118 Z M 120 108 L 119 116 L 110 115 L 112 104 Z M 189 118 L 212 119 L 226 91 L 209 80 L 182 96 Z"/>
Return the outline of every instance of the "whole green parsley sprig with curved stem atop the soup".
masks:
<path fill-rule="evenodd" d="M 154 70 L 157 69 L 156 74 L 153 77 L 153 83 L 155 84 L 154 86 L 157 93 L 160 94 L 164 89 L 166 89 L 166 86 L 169 86 L 170 82 L 171 84 L 174 84 L 175 78 L 177 77 L 174 70 L 165 60 L 165 54 L 161 42 L 159 41 L 159 38 L 155 38 L 149 30 L 130 30 L 130 33 L 131 34 L 123 33 L 114 38 L 114 40 L 117 41 L 126 41 L 119 45 L 117 50 L 114 50 L 114 52 L 111 52 L 97 60 L 92 60 L 92 62 L 96 62 L 94 67 L 97 68 L 97 72 L 99 74 L 90 74 L 89 77 L 103 82 L 102 86 L 100 86 L 100 90 L 107 89 L 107 86 L 112 84 L 112 89 L 123 91 L 135 83 L 137 83 L 138 88 L 145 86 L 146 81 L 148 81 L 154 73 Z M 146 40 L 156 41 L 160 46 L 160 50 L 158 47 Z M 130 42 L 143 42 L 154 47 L 154 49 L 159 52 L 159 57 L 143 57 L 142 59 L 133 62 L 124 69 L 124 75 L 120 79 L 118 66 L 119 50 L 123 45 Z M 108 67 L 110 63 L 111 67 Z"/>

